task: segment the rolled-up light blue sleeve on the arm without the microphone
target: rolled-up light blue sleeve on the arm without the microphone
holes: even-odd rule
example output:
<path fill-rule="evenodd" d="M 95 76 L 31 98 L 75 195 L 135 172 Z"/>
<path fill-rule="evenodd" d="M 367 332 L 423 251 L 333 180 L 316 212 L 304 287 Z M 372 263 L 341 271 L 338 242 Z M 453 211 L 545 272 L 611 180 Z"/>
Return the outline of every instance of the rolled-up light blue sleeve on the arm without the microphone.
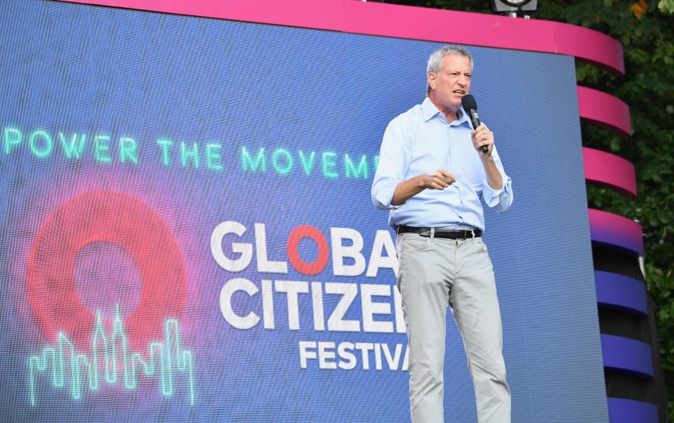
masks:
<path fill-rule="evenodd" d="M 402 205 L 391 204 L 395 188 L 404 180 L 411 157 L 409 137 L 402 123 L 400 117 L 393 119 L 386 127 L 381 141 L 379 163 L 371 190 L 372 202 L 377 209 L 397 209 Z"/>

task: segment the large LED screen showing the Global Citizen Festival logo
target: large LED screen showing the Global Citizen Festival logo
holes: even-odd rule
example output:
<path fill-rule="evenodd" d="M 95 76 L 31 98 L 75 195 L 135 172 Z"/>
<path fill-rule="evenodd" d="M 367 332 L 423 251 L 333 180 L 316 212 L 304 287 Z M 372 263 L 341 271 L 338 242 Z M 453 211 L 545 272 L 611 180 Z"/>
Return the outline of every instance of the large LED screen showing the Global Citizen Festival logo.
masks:
<path fill-rule="evenodd" d="M 0 24 L 0 419 L 409 420 L 370 187 L 440 44 L 44 0 Z M 469 48 L 513 180 L 485 212 L 513 422 L 605 421 L 574 59 Z M 475 421 L 448 328 L 446 416 Z"/>

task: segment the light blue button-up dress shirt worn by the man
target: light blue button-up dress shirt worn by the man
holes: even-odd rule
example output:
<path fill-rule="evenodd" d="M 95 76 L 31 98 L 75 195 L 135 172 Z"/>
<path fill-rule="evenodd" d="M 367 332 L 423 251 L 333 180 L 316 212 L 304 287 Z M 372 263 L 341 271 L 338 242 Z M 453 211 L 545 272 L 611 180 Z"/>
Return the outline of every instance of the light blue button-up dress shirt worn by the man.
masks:
<path fill-rule="evenodd" d="M 447 122 L 430 98 L 393 119 L 384 133 L 379 164 L 372 183 L 372 202 L 390 209 L 388 223 L 422 228 L 484 230 L 485 204 L 505 213 L 513 204 L 513 188 L 503 170 L 496 145 L 491 152 L 503 186 L 494 190 L 487 183 L 482 160 L 470 138 L 473 127 L 460 109 L 461 119 Z M 456 182 L 444 190 L 425 189 L 403 204 L 391 204 L 395 187 L 413 176 L 445 169 Z"/>

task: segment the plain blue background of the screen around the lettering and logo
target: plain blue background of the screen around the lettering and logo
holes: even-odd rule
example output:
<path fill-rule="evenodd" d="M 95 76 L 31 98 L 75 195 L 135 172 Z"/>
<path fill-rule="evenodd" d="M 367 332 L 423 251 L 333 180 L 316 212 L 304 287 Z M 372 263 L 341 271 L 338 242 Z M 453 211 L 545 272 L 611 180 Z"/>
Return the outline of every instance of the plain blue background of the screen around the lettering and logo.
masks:
<path fill-rule="evenodd" d="M 275 297 L 275 330 L 261 323 L 239 330 L 223 318 L 218 302 L 232 278 L 258 287 L 263 279 L 393 286 L 390 269 L 377 278 L 347 278 L 334 276 L 330 261 L 322 273 L 307 276 L 289 263 L 288 274 L 273 275 L 256 271 L 253 254 L 244 271 L 230 273 L 213 260 L 209 242 L 222 221 L 246 226 L 242 242 L 249 243 L 254 223 L 265 223 L 269 259 L 288 261 L 293 228 L 315 226 L 328 241 L 330 228 L 354 228 L 369 259 L 376 230 L 389 230 L 385 212 L 371 204 L 371 166 L 367 178 L 347 178 L 340 166 L 336 178 L 326 178 L 318 165 L 306 175 L 297 162 L 287 175 L 270 163 L 265 172 L 244 171 L 241 149 L 331 151 L 338 165 L 344 154 L 372 160 L 388 122 L 423 100 L 425 62 L 440 44 L 39 0 L 3 1 L 0 24 L 2 128 L 20 128 L 25 136 L 37 129 L 108 134 L 113 141 L 129 135 L 140 143 L 138 165 L 96 162 L 91 150 L 67 160 L 58 142 L 46 158 L 32 154 L 25 140 L 9 153 L 3 145 L 4 415 L 31 421 L 409 420 L 407 372 L 363 370 L 360 363 L 354 370 L 320 370 L 316 360 L 301 369 L 298 359 L 298 341 L 394 345 L 405 344 L 405 334 L 315 331 L 307 294 L 298 299 L 300 330 L 289 330 L 284 297 Z M 515 196 L 507 214 L 485 211 L 513 422 L 607 421 L 574 59 L 469 48 L 471 93 L 496 134 Z M 166 166 L 159 138 L 220 143 L 224 169 L 205 169 L 204 157 L 198 169 L 182 167 L 177 150 Z M 76 401 L 46 375 L 39 404 L 29 404 L 27 358 L 48 340 L 28 304 L 28 250 L 51 212 L 91 190 L 140 198 L 176 235 L 189 267 L 184 342 L 196 357 L 194 405 L 184 391 L 161 396 L 154 382 L 137 391 L 85 391 Z M 315 249 L 302 249 L 310 261 Z M 105 301 L 132 310 L 138 301 L 132 282 L 119 289 L 121 297 Z M 96 289 L 79 291 L 92 311 L 107 304 L 92 299 Z M 326 318 L 337 300 L 324 300 Z M 377 299 L 387 300 L 392 304 L 392 297 Z M 238 293 L 233 301 L 242 315 L 261 313 L 260 294 Z M 359 320 L 360 312 L 358 298 L 346 318 Z M 450 313 L 448 322 L 446 418 L 476 421 L 473 384 Z"/>

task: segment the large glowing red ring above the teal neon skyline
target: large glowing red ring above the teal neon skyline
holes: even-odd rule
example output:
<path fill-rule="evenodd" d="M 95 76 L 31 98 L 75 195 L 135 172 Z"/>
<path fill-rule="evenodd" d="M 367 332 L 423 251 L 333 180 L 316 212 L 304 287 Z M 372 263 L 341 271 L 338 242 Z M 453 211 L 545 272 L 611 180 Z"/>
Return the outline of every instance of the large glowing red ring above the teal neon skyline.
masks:
<path fill-rule="evenodd" d="M 91 346 L 94 316 L 82 304 L 74 283 L 77 253 L 92 242 L 123 248 L 138 266 L 140 304 L 124 318 L 127 342 L 145 349 L 161 339 L 166 318 L 183 311 L 187 284 L 183 256 L 171 230 L 133 197 L 95 191 L 72 198 L 40 228 L 28 259 L 28 298 L 50 341 L 64 332 L 82 347 Z"/>

